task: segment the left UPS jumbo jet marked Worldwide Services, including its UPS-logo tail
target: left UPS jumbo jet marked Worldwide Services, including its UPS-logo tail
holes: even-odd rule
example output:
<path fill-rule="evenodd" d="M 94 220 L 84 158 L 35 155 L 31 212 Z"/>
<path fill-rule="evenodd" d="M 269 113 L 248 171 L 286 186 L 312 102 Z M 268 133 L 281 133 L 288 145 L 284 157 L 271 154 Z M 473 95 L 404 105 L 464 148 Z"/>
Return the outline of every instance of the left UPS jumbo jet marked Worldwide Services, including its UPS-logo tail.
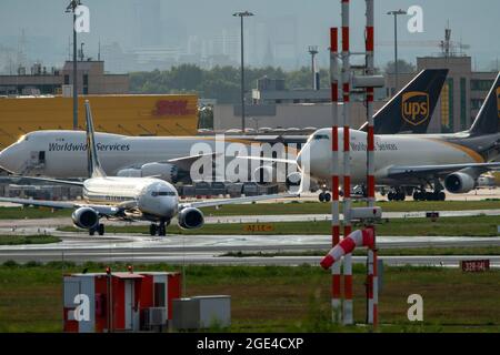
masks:
<path fill-rule="evenodd" d="M 429 120 L 414 124 L 414 122 L 400 119 L 403 114 L 404 105 L 402 103 L 407 101 L 411 103 L 406 105 L 407 110 L 410 110 L 410 114 L 426 112 L 430 116 L 447 73 L 446 69 L 430 69 L 420 72 L 377 112 L 374 116 L 376 132 L 414 131 L 421 133 L 422 130 L 427 130 Z M 407 98 L 408 95 L 411 98 Z M 296 159 L 298 151 L 293 148 L 300 149 L 307 138 L 272 135 L 224 138 L 227 144 L 238 142 L 246 146 L 254 143 L 272 144 L 282 140 L 284 140 L 284 145 L 288 145 L 289 158 Z M 96 133 L 97 149 L 107 174 L 136 178 L 157 175 L 171 183 L 189 181 L 190 168 L 200 158 L 200 155 L 190 154 L 193 144 L 207 143 L 213 146 L 216 141 L 213 136 L 127 136 Z M 296 146 L 292 146 L 293 144 Z M 17 175 L 63 179 L 88 176 L 86 133 L 64 130 L 30 132 L 0 152 L 0 168 Z M 262 168 L 257 169 L 259 172 L 262 170 Z M 262 174 L 258 173 L 257 169 L 251 171 L 251 178 L 258 180 Z"/>

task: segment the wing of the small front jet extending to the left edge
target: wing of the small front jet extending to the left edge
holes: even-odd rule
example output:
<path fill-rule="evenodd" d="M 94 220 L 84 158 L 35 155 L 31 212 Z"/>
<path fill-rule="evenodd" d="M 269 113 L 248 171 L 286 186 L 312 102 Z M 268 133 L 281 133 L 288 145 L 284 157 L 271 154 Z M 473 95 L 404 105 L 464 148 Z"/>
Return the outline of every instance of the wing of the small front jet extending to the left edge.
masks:
<path fill-rule="evenodd" d="M 86 204 L 86 203 L 73 203 L 73 202 L 62 202 L 62 201 L 48 201 L 48 200 L 30 200 L 30 199 L 13 199 L 13 197 L 0 197 L 0 202 L 10 202 L 16 204 L 22 204 L 26 206 L 40 206 L 49 209 L 79 209 L 79 207 L 91 207 L 96 210 L 100 215 L 113 216 L 127 210 L 131 202 L 124 202 L 118 206 L 104 205 L 104 204 Z"/>

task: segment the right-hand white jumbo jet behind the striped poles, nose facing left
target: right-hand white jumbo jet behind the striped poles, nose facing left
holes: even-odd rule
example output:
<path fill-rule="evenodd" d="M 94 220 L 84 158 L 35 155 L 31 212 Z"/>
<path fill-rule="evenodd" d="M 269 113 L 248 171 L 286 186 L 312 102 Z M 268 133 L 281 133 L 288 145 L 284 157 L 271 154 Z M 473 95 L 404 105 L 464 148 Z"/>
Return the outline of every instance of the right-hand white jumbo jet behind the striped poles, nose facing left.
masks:
<path fill-rule="evenodd" d="M 376 181 L 380 185 L 414 186 L 414 200 L 444 200 L 443 189 L 466 193 L 490 170 L 500 154 L 500 73 L 472 126 L 452 134 L 378 134 Z M 339 140 L 342 141 L 342 130 Z M 351 181 L 362 184 L 367 174 L 367 133 L 350 130 Z M 343 156 L 339 154 L 342 171 Z M 320 181 L 330 181 L 331 129 L 316 131 L 300 151 L 297 163 Z M 342 174 L 342 172 L 340 172 Z M 443 184 L 441 183 L 443 182 Z M 433 192 L 427 192 L 433 186 Z"/>

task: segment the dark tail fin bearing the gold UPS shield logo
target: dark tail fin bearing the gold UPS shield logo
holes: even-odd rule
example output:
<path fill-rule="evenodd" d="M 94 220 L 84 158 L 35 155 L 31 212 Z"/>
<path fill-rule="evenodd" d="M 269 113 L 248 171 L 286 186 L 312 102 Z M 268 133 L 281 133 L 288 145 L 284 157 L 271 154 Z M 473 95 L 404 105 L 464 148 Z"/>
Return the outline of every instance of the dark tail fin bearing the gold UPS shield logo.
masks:
<path fill-rule="evenodd" d="M 422 70 L 373 115 L 374 133 L 426 133 L 447 74 L 448 69 Z"/>

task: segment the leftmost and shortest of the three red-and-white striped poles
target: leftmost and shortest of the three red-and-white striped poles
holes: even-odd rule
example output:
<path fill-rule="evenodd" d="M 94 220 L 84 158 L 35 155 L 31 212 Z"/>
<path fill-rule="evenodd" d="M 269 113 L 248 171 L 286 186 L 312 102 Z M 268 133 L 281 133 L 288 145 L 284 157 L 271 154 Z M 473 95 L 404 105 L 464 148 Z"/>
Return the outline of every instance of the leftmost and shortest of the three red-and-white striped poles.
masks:
<path fill-rule="evenodd" d="M 340 209 L 339 209 L 339 80 L 338 57 L 339 29 L 330 29 L 330 78 L 331 78 L 331 246 L 340 242 Z M 340 294 L 340 265 L 333 264 L 331 268 L 331 307 L 332 321 L 341 321 L 341 294 Z"/>

